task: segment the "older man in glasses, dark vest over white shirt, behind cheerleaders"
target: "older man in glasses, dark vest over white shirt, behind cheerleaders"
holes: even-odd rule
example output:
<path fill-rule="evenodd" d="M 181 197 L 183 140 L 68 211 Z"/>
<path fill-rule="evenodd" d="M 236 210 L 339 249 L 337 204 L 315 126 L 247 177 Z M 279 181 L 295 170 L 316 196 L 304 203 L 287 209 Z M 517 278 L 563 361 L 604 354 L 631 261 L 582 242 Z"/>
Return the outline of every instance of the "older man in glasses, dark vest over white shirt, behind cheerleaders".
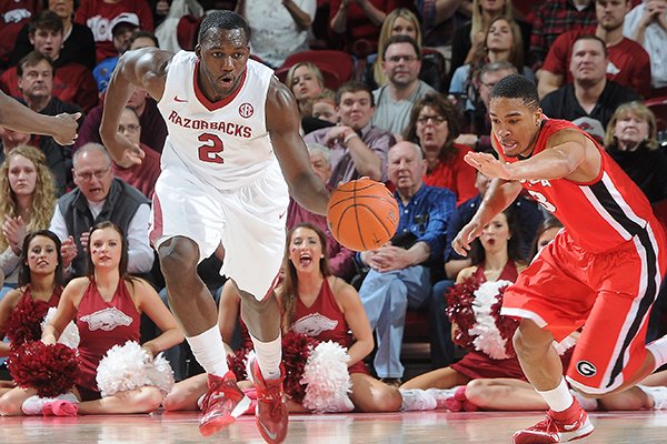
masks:
<path fill-rule="evenodd" d="M 111 172 L 111 158 L 104 147 L 89 143 L 73 159 L 77 188 L 58 200 L 50 229 L 62 242 L 69 276 L 86 274 L 86 255 L 91 226 L 111 221 L 128 240 L 128 272 L 146 274 L 153 264 L 148 241 L 150 201 L 136 188 Z"/>

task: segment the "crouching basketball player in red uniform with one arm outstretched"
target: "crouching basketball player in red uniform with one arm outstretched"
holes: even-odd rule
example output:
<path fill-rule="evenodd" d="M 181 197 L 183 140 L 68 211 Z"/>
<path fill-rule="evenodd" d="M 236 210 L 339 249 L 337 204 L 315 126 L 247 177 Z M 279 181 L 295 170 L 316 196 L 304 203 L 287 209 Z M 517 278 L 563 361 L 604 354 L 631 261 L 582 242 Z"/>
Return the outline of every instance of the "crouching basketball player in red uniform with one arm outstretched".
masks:
<path fill-rule="evenodd" d="M 468 153 L 494 178 L 479 210 L 454 240 L 465 254 L 482 226 L 524 188 L 565 225 L 505 293 L 501 313 L 519 317 L 514 343 L 528 381 L 550 410 L 514 442 L 558 443 L 593 433 L 568 391 L 551 345 L 581 327 L 566 377 L 594 397 L 628 389 L 667 362 L 667 340 L 645 346 L 650 306 L 667 265 L 665 236 L 634 182 L 585 132 L 539 109 L 521 75 L 490 94 L 492 144 L 501 159 Z"/>

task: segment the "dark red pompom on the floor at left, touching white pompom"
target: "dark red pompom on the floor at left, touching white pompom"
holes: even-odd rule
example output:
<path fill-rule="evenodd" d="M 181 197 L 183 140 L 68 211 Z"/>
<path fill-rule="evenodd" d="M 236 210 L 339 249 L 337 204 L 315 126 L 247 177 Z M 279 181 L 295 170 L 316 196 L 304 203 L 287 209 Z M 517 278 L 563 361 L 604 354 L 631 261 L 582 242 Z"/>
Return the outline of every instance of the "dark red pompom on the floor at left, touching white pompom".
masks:
<path fill-rule="evenodd" d="M 23 389 L 34 389 L 41 397 L 54 397 L 74 385 L 79 370 L 77 352 L 63 344 L 27 342 L 9 356 L 9 372 Z"/>

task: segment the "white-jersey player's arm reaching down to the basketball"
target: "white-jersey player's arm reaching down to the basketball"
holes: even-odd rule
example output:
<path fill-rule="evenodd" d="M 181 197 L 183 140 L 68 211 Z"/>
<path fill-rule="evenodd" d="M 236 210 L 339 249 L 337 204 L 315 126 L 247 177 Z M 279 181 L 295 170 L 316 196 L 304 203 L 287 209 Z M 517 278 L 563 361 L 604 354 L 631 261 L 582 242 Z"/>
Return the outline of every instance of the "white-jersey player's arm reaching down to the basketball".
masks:
<path fill-rule="evenodd" d="M 308 149 L 299 134 L 300 114 L 287 87 L 272 79 L 266 104 L 267 128 L 290 194 L 308 211 L 327 213 L 329 192 L 312 172 Z"/>

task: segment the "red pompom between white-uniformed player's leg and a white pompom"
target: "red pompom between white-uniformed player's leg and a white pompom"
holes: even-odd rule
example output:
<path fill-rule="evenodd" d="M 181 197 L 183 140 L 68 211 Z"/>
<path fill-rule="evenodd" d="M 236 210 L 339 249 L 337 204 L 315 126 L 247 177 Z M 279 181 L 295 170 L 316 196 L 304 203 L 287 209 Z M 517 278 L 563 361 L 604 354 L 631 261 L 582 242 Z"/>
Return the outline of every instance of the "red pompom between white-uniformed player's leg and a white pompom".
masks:
<path fill-rule="evenodd" d="M 282 336 L 282 363 L 285 366 L 285 392 L 300 403 L 306 395 L 306 385 L 301 384 L 303 367 L 310 352 L 319 344 L 315 337 L 289 332 Z"/>

